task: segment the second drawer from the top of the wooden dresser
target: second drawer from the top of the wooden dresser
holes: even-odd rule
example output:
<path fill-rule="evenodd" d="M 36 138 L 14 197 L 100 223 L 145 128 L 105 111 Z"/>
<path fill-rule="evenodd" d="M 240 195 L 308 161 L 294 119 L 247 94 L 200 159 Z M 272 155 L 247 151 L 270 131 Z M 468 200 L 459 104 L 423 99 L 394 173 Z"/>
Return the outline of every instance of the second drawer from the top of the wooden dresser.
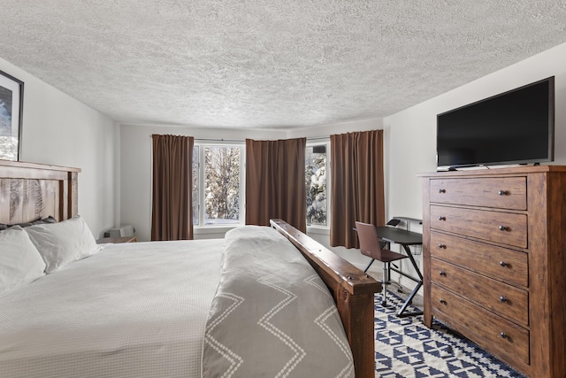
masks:
<path fill-rule="evenodd" d="M 527 248 L 527 216 L 458 207 L 431 206 L 431 228 Z"/>

